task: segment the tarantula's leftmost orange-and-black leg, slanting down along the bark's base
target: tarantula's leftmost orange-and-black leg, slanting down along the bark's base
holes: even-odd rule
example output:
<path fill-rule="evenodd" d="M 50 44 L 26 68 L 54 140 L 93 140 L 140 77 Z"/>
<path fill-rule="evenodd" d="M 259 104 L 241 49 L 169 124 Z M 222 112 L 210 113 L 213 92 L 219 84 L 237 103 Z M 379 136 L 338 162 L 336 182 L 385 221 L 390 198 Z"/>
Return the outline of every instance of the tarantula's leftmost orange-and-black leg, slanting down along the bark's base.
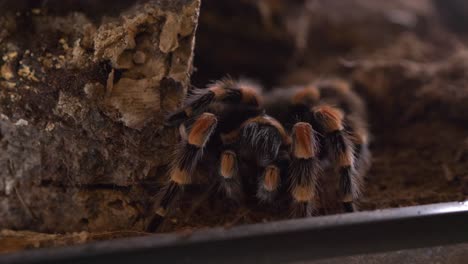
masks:
<path fill-rule="evenodd" d="M 206 146 L 216 124 L 217 119 L 213 114 L 201 114 L 189 129 L 187 139 L 184 139 L 176 149 L 169 171 L 169 182 L 163 188 L 161 202 L 148 226 L 150 231 L 157 230 L 168 211 L 183 193 L 184 187 L 191 184 L 192 174 L 202 158 L 203 148 Z"/>

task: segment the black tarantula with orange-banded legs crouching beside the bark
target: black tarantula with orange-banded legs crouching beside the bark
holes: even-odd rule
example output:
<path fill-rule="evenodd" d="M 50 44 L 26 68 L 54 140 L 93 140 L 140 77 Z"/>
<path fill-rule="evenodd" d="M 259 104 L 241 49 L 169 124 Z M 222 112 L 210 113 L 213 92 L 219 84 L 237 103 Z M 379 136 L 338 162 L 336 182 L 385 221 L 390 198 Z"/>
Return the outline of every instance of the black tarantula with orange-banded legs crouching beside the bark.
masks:
<path fill-rule="evenodd" d="M 193 90 L 166 121 L 182 140 L 150 230 L 200 170 L 233 201 L 252 183 L 261 202 L 288 196 L 297 217 L 323 203 L 320 178 L 336 176 L 343 209 L 355 210 L 370 153 L 364 104 L 344 81 L 264 93 L 253 82 L 224 79 Z"/>

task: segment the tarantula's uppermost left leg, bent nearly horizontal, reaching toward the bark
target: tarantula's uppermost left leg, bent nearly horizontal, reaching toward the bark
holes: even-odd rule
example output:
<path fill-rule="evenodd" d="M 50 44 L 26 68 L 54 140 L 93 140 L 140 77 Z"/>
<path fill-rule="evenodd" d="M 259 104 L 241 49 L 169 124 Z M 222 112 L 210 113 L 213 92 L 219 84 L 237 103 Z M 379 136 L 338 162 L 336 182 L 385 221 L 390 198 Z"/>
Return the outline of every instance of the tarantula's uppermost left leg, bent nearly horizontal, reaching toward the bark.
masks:
<path fill-rule="evenodd" d="M 166 118 L 168 125 L 180 125 L 204 111 L 213 103 L 243 104 L 258 107 L 260 88 L 247 81 L 230 79 L 213 83 L 206 89 L 195 89 L 184 105 Z"/>

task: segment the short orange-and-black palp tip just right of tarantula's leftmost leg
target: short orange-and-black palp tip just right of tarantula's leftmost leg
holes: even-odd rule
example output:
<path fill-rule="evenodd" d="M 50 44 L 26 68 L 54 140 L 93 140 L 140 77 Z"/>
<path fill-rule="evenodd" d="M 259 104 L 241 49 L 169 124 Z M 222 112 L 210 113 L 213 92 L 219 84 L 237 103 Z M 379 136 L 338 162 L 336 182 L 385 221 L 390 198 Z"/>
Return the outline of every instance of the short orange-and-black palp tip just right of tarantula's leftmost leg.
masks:
<path fill-rule="evenodd" d="M 221 191 L 227 198 L 239 203 L 242 197 L 242 183 L 238 159 L 234 150 L 226 149 L 221 153 L 218 174 L 221 178 Z"/>

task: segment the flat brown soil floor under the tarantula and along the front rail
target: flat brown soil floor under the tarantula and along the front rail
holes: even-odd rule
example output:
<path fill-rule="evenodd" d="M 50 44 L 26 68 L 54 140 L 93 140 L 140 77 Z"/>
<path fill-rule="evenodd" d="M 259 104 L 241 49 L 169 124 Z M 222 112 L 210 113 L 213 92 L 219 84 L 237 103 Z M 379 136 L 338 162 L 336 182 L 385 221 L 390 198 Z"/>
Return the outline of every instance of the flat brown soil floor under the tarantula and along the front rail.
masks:
<path fill-rule="evenodd" d="M 421 123 L 374 134 L 373 162 L 361 210 L 460 201 L 467 195 L 466 135 L 450 123 Z M 427 131 L 433 131 L 428 133 Z M 267 208 L 253 201 L 226 205 L 202 190 L 192 190 L 168 219 L 162 232 L 190 233 L 214 226 L 231 227 L 288 218 L 284 206 Z M 3 230 L 0 253 L 27 248 L 80 244 L 95 240 L 147 235 L 145 232 L 42 234 Z"/>

